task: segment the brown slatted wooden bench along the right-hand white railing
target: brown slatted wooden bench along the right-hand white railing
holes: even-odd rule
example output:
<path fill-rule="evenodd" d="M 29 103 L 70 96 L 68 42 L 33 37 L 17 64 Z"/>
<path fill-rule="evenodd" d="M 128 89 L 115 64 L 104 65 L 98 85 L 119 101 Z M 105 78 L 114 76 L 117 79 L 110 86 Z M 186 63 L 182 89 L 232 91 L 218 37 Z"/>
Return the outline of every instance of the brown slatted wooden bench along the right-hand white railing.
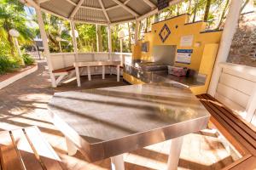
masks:
<path fill-rule="evenodd" d="M 210 121 L 218 131 L 241 154 L 241 159 L 224 169 L 256 169 L 256 131 L 241 117 L 209 94 L 197 95 L 207 111 L 212 115 Z"/>

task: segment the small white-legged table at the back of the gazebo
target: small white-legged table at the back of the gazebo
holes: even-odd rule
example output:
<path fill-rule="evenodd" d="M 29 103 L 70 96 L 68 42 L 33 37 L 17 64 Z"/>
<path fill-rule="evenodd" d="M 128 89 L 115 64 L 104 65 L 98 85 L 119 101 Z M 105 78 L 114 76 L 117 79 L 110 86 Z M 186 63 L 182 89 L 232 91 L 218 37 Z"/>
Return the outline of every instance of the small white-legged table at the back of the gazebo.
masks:
<path fill-rule="evenodd" d="M 105 66 L 106 65 L 116 65 L 117 82 L 119 82 L 119 77 L 120 77 L 120 68 L 119 68 L 119 66 L 121 65 L 121 61 L 77 61 L 77 62 L 74 62 L 73 66 L 75 67 L 75 70 L 76 70 L 76 77 L 77 77 L 78 87 L 81 86 L 79 67 L 87 67 L 88 80 L 90 81 L 91 80 L 90 66 L 102 66 L 102 79 L 105 79 Z"/>

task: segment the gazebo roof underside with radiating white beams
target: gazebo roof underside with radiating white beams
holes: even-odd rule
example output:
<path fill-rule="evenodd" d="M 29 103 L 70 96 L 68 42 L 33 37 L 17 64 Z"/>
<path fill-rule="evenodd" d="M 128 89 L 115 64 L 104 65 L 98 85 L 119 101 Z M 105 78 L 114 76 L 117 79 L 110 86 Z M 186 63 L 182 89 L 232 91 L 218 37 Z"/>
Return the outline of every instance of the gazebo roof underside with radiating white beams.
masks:
<path fill-rule="evenodd" d="M 25 1 L 26 0 L 21 0 Z M 114 24 L 157 13 L 157 0 L 33 0 L 44 11 L 68 20 Z M 179 3 L 183 0 L 173 0 Z M 29 1 L 27 1 L 29 2 Z M 30 0 L 31 2 L 31 0 Z"/>

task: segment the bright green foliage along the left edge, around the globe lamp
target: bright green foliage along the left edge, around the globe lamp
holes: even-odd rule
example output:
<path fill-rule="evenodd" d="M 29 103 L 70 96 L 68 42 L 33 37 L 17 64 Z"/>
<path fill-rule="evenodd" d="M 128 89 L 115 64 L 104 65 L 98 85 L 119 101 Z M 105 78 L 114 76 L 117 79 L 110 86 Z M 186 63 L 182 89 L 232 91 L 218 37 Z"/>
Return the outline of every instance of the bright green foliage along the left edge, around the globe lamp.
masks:
<path fill-rule="evenodd" d="M 0 0 L 0 3 L 0 74 L 3 74 L 20 68 L 20 57 L 9 30 L 15 29 L 20 32 L 20 46 L 31 44 L 35 34 L 26 26 L 26 13 L 20 1 Z M 32 63 L 32 59 L 26 58 L 26 61 L 28 64 Z"/>

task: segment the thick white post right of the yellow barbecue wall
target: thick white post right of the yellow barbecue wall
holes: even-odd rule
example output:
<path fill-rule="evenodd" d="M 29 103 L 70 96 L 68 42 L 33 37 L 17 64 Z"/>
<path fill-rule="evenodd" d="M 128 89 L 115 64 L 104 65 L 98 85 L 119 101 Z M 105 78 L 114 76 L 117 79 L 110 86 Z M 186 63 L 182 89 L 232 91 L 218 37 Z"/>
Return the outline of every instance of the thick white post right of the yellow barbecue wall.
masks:
<path fill-rule="evenodd" d="M 228 58 L 231 42 L 236 32 L 236 26 L 238 24 L 239 16 L 241 13 L 242 3 L 243 0 L 231 0 L 230 2 L 229 13 L 227 14 L 227 18 L 225 21 L 224 31 L 220 40 L 218 54 L 213 68 L 210 86 L 208 89 L 208 94 L 211 94 L 213 97 L 216 94 L 219 77 L 222 72 L 222 69 L 218 64 L 221 62 L 226 62 Z"/>

